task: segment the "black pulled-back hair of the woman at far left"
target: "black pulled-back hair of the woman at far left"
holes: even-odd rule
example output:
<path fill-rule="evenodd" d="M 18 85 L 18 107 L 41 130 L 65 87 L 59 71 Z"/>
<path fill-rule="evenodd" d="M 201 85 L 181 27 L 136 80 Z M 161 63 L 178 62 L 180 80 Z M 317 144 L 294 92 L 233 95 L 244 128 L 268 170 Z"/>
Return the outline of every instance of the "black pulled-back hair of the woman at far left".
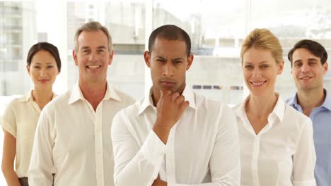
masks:
<path fill-rule="evenodd" d="M 28 66 L 31 65 L 33 56 L 35 56 L 35 54 L 37 54 L 38 51 L 50 52 L 50 54 L 52 54 L 52 56 L 55 58 L 55 61 L 57 62 L 57 69 L 59 70 L 59 72 L 61 71 L 61 59 L 59 57 L 59 50 L 57 49 L 57 46 L 54 46 L 53 44 L 50 44 L 48 42 L 38 42 L 36 44 L 33 44 L 33 46 L 31 46 L 28 52 L 28 58 L 26 60 Z"/>

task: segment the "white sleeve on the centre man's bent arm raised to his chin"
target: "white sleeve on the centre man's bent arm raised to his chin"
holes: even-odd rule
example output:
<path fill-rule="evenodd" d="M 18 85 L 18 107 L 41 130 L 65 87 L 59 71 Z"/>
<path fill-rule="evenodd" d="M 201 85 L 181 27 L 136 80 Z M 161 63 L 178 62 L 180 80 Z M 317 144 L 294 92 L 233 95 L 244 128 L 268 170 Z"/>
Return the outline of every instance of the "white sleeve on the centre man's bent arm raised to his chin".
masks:
<path fill-rule="evenodd" d="M 115 185 L 150 186 L 158 176 L 166 146 L 151 130 L 139 147 L 127 127 L 126 117 L 124 111 L 120 111 L 112 121 Z"/>

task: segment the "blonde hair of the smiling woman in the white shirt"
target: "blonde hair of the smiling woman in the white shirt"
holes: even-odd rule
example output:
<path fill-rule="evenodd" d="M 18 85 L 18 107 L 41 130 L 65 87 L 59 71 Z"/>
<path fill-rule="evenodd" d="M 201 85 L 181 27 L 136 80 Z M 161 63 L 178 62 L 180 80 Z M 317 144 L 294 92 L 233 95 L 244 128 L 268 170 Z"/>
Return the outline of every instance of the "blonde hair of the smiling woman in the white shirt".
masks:
<path fill-rule="evenodd" d="M 277 63 L 283 61 L 283 49 L 281 49 L 279 39 L 265 28 L 255 28 L 243 40 L 240 51 L 241 64 L 243 64 L 243 55 L 252 47 L 271 51 L 272 57 Z"/>

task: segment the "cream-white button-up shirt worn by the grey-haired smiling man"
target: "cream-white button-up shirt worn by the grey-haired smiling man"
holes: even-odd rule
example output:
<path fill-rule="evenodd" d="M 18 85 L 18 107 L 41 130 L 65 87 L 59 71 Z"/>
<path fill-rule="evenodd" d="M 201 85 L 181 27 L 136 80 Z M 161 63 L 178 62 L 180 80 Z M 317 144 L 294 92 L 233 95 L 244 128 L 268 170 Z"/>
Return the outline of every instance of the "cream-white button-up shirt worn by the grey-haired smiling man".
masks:
<path fill-rule="evenodd" d="M 43 109 L 37 124 L 28 171 L 29 185 L 111 186 L 113 154 L 110 129 L 117 111 L 134 99 L 107 85 L 96 111 L 79 84 Z"/>

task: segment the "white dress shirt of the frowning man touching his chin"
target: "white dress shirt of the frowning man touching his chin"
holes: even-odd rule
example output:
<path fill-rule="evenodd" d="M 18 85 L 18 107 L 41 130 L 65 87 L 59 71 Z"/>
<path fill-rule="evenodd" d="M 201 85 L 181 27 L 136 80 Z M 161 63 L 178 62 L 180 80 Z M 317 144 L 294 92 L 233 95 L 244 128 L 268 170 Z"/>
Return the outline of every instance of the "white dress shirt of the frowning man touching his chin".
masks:
<path fill-rule="evenodd" d="M 114 118 L 117 186 L 150 186 L 160 175 L 172 185 L 239 185 L 240 161 L 236 116 L 225 104 L 186 87 L 190 105 L 163 144 L 152 128 L 156 107 L 151 93 Z"/>

